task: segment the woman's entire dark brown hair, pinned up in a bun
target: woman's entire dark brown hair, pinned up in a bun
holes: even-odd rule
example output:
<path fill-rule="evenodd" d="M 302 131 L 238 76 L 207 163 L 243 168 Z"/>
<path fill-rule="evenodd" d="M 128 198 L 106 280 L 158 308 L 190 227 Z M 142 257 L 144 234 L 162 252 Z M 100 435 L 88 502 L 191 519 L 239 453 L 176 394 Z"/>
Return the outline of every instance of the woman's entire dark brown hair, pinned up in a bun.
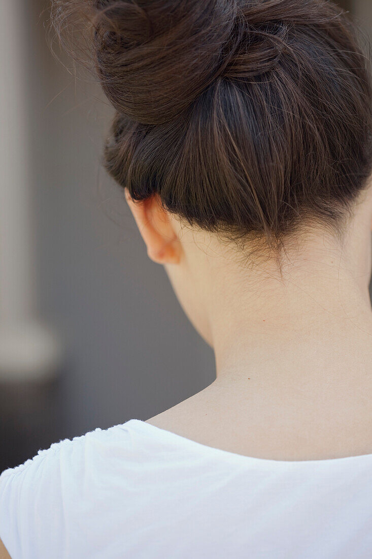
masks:
<path fill-rule="evenodd" d="M 372 92 L 336 4 L 53 0 L 52 22 L 74 55 L 83 33 L 117 111 L 104 165 L 134 200 L 275 249 L 307 222 L 340 233 L 372 169 Z"/>

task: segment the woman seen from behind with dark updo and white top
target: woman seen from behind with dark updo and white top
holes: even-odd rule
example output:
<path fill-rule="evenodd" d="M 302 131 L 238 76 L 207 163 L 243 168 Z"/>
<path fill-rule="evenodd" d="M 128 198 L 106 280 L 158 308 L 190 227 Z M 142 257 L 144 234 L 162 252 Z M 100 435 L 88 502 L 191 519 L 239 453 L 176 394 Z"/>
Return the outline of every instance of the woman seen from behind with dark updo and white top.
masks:
<path fill-rule="evenodd" d="M 372 89 L 351 22 L 326 0 L 55 0 L 53 23 L 65 46 L 83 29 L 117 111 L 106 169 L 216 380 L 3 472 L 4 546 L 372 557 Z"/>

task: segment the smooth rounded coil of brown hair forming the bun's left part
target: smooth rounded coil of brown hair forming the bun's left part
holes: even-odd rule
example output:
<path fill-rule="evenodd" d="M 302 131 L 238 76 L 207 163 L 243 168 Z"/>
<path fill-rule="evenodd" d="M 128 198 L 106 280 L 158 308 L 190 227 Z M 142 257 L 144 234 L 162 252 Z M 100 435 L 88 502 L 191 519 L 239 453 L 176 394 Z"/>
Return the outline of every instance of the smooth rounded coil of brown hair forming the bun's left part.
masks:
<path fill-rule="evenodd" d="M 104 92 L 118 112 L 155 125 L 184 110 L 216 77 L 236 2 L 96 0 L 90 10 Z"/>

